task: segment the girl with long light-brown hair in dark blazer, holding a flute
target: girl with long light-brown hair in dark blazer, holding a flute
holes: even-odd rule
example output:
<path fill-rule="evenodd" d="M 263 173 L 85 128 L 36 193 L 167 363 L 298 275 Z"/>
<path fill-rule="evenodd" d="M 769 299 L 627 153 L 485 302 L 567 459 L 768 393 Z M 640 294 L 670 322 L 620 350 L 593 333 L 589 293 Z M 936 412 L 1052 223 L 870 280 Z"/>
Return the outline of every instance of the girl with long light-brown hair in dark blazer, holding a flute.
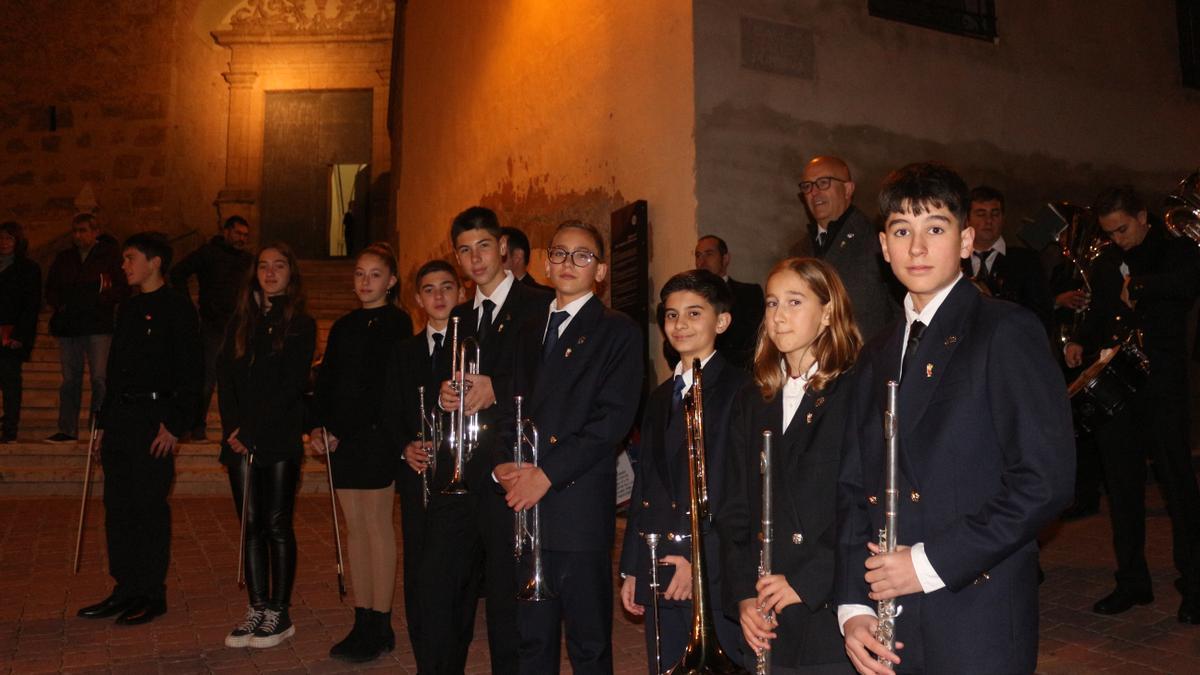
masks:
<path fill-rule="evenodd" d="M 853 673 L 833 607 L 835 490 L 846 371 L 862 339 L 838 274 L 816 258 L 781 261 L 767 279 L 755 382 L 733 404 L 725 507 L 718 516 L 725 607 L 737 608 L 772 673 Z M 772 574 L 758 577 L 762 432 L 773 434 Z M 748 668 L 754 670 L 755 653 Z"/>

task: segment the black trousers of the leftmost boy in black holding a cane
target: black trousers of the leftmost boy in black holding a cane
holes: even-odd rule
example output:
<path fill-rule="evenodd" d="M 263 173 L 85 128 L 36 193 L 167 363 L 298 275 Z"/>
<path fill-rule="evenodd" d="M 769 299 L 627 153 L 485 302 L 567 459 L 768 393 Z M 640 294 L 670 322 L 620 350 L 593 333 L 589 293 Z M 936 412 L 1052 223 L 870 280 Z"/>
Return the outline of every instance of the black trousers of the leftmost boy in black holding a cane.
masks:
<path fill-rule="evenodd" d="M 148 413 L 149 414 L 149 413 Z M 108 573 L 118 597 L 162 596 L 170 560 L 170 506 L 175 458 L 150 455 L 155 422 L 104 431 L 104 534 Z"/>

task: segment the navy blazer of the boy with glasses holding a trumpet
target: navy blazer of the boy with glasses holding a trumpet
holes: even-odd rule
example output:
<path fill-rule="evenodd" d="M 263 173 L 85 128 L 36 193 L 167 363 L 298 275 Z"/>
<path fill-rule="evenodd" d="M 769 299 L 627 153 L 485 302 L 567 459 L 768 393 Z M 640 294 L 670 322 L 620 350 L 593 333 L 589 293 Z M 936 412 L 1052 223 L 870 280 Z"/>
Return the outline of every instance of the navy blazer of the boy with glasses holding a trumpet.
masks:
<path fill-rule="evenodd" d="M 593 297 L 566 324 L 550 358 L 541 339 L 550 303 L 520 330 L 512 392 L 538 425 L 539 464 L 551 482 L 541 500 L 542 548 L 612 548 L 617 518 L 617 450 L 632 428 L 642 392 L 642 331 Z M 503 406 L 502 452 L 512 461 L 511 396 Z"/>

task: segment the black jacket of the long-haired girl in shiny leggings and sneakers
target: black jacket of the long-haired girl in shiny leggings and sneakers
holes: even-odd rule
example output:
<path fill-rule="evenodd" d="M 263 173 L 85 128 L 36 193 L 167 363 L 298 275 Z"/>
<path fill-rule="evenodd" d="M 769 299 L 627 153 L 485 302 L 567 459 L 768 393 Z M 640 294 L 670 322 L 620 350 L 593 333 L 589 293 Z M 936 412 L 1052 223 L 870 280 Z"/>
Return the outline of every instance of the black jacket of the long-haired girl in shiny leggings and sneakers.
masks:
<path fill-rule="evenodd" d="M 283 345 L 275 338 L 284 331 Z M 262 317 L 250 348 L 235 357 L 233 330 L 226 336 L 217 366 L 217 404 L 221 408 L 221 464 L 239 461 L 224 442 L 238 440 L 254 453 L 254 464 L 299 458 L 304 454 L 304 394 L 308 389 L 317 324 L 300 313 L 283 324 L 283 306 L 276 304 Z"/>

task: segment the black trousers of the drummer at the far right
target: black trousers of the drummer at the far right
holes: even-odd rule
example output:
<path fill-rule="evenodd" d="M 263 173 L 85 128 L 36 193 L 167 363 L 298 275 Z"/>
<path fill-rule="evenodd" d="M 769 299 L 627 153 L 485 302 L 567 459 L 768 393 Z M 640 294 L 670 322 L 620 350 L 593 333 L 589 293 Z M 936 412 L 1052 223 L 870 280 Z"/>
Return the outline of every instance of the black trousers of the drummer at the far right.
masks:
<path fill-rule="evenodd" d="M 1096 434 L 1104 466 L 1116 552 L 1116 580 L 1150 591 L 1146 566 L 1146 459 L 1153 462 L 1166 513 L 1171 552 L 1184 593 L 1200 593 L 1200 490 L 1188 444 L 1187 369 L 1151 356 L 1152 375 L 1126 410 Z"/>

